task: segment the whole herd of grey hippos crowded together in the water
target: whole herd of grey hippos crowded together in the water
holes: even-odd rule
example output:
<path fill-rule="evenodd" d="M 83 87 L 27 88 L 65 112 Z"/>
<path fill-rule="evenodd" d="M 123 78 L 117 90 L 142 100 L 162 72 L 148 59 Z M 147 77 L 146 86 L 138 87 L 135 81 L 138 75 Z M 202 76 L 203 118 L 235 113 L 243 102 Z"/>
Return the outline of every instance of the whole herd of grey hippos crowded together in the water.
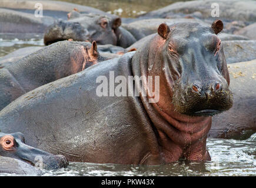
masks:
<path fill-rule="evenodd" d="M 138 18 L 2 0 L 2 36 L 44 37 L 0 58 L 0 172 L 72 162 L 211 160 L 207 137 L 256 130 L 256 1 L 177 2 Z M 211 16 L 211 4 L 220 17 Z M 98 76 L 158 76 L 159 100 L 97 96 Z M 117 83 L 115 83 L 117 85 Z M 134 88 L 139 86 L 135 80 Z M 145 87 L 142 79 L 142 88 Z M 110 92 L 110 90 L 109 90 Z M 26 140 L 26 144 L 25 144 Z"/>

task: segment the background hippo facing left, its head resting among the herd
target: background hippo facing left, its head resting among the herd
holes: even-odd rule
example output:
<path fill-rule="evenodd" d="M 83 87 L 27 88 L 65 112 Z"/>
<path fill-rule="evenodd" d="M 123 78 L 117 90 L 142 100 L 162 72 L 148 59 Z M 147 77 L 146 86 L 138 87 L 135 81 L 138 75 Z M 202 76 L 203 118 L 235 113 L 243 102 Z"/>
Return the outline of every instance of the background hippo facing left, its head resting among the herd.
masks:
<path fill-rule="evenodd" d="M 76 12 L 76 11 L 74 11 Z M 99 45 L 111 44 L 127 48 L 136 42 L 134 36 L 121 26 L 121 18 L 98 14 L 69 16 L 50 25 L 44 35 L 45 45 L 69 38 L 74 41 L 96 41 Z"/>

